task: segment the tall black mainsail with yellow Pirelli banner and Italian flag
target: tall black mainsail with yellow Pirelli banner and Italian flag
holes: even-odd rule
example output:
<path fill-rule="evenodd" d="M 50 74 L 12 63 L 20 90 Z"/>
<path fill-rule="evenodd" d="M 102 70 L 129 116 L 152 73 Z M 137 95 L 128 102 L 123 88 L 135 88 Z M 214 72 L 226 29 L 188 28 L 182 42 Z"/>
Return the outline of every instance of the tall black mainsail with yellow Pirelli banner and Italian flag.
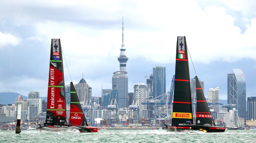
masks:
<path fill-rule="evenodd" d="M 193 124 L 186 37 L 177 37 L 172 126 Z"/>

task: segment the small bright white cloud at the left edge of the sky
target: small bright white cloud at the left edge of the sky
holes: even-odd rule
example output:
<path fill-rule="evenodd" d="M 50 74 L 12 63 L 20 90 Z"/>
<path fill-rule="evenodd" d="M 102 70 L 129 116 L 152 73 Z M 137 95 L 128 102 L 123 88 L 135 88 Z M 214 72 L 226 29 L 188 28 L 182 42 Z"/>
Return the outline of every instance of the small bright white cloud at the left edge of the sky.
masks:
<path fill-rule="evenodd" d="M 21 41 L 22 39 L 17 36 L 14 36 L 10 33 L 2 33 L 0 31 L 0 49 L 4 49 L 8 45 L 17 46 Z"/>

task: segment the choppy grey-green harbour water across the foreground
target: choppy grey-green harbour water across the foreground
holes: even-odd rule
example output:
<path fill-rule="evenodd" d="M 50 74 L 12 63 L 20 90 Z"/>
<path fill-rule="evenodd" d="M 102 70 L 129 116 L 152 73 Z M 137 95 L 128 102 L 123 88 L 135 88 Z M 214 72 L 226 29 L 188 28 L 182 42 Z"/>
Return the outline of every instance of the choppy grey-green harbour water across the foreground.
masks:
<path fill-rule="evenodd" d="M 222 133 L 166 132 L 166 130 L 99 130 L 97 133 L 76 133 L 76 131 L 0 131 L 0 143 L 60 143 L 60 142 L 103 142 L 103 143 L 150 143 L 150 142 L 204 142 L 234 143 L 255 142 L 256 130 L 226 130 Z"/>

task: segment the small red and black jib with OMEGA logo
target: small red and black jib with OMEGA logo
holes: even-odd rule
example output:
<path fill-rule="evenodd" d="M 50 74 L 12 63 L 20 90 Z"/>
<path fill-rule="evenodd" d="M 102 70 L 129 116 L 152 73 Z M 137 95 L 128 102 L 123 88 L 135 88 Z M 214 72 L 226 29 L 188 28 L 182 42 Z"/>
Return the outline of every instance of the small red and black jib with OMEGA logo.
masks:
<path fill-rule="evenodd" d="M 70 82 L 70 114 L 69 114 L 69 124 L 88 126 L 86 118 L 84 117 L 84 112 L 82 106 L 79 102 L 78 96 L 76 94 L 73 82 Z"/>

